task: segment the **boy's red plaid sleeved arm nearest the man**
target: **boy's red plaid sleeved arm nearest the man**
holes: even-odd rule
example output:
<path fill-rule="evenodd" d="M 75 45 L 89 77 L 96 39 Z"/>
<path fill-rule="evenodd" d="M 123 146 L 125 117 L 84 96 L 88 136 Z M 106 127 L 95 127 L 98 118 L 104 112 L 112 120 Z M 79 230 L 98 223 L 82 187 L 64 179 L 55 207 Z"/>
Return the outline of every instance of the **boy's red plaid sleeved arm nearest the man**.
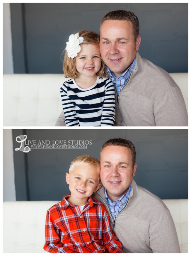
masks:
<path fill-rule="evenodd" d="M 113 233 L 109 223 L 109 215 L 105 209 L 102 215 L 102 237 L 104 245 L 109 253 L 123 253 L 122 244 Z"/>

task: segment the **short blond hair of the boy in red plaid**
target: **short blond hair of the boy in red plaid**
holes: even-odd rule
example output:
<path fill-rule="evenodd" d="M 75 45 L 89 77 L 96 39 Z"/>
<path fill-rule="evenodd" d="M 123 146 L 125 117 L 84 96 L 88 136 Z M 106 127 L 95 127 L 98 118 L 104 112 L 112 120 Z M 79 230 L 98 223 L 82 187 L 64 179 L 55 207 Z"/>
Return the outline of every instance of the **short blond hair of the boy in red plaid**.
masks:
<path fill-rule="evenodd" d="M 73 171 L 76 165 L 80 164 L 86 164 L 95 167 L 97 169 L 98 174 L 100 174 L 99 160 L 89 155 L 76 157 L 70 164 L 69 172 Z"/>

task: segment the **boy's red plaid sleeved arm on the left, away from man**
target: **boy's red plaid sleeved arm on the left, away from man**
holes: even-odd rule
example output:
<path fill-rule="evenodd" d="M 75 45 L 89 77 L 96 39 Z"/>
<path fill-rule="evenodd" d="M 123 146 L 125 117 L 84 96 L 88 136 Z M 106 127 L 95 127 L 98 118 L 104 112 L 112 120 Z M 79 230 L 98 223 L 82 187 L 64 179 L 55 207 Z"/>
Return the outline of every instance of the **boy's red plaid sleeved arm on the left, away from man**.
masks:
<path fill-rule="evenodd" d="M 51 214 L 49 211 L 46 213 L 45 223 L 45 244 L 44 250 L 51 253 L 77 253 L 65 246 L 60 241 L 59 228 L 54 227 Z"/>

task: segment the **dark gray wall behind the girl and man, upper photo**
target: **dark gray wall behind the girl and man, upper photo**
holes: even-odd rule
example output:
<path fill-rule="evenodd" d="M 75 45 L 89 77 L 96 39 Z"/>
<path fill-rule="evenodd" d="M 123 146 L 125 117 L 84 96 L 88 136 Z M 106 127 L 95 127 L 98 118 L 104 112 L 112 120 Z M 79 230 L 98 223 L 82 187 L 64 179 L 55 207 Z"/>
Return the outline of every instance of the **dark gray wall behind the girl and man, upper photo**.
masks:
<path fill-rule="evenodd" d="M 138 16 L 143 58 L 167 72 L 188 72 L 187 3 L 12 3 L 14 72 L 62 73 L 69 35 L 85 28 L 99 33 L 101 18 L 118 9 Z"/>

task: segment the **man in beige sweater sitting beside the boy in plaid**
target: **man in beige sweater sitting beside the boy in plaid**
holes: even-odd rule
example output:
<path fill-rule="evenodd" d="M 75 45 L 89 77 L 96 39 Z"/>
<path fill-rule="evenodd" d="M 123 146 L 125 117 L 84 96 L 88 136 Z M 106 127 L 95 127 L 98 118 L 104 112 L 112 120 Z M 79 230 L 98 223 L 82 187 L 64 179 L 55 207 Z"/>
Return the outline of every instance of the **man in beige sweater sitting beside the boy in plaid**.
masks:
<path fill-rule="evenodd" d="M 179 253 L 171 214 L 162 200 L 137 186 L 135 146 L 129 140 L 106 141 L 100 153 L 103 186 L 93 194 L 105 204 L 124 253 Z"/>

